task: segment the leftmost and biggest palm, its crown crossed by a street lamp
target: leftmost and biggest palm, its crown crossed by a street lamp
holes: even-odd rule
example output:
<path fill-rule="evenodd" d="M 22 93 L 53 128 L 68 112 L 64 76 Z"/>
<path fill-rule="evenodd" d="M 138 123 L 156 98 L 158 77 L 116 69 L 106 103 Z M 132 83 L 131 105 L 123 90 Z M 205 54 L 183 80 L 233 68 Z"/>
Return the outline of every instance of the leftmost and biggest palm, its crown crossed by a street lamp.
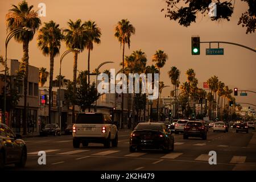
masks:
<path fill-rule="evenodd" d="M 22 31 L 15 34 L 14 39 L 23 44 L 23 57 L 19 67 L 19 72 L 24 76 L 24 113 L 23 113 L 23 134 L 27 134 L 27 82 L 28 82 L 28 44 L 34 38 L 35 31 L 38 30 L 41 20 L 38 13 L 32 10 L 34 6 L 28 6 L 26 1 L 22 1 L 18 6 L 12 5 L 6 15 L 7 31 L 15 28 L 29 27 L 34 31 Z"/>

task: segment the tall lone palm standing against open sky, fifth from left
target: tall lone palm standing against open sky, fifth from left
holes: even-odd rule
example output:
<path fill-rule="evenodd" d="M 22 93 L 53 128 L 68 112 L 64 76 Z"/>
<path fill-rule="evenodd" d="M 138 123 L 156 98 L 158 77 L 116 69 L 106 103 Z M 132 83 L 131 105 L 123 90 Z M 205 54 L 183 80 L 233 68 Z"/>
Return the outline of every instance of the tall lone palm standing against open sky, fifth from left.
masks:
<path fill-rule="evenodd" d="M 117 23 L 114 29 L 114 36 L 118 39 L 120 46 L 123 46 L 123 55 L 122 55 L 122 69 L 125 68 L 125 44 L 128 45 L 130 49 L 130 38 L 131 35 L 135 34 L 135 28 L 130 24 L 129 20 L 122 19 Z M 123 128 L 123 93 L 122 93 L 122 112 L 121 112 L 121 128 Z"/>

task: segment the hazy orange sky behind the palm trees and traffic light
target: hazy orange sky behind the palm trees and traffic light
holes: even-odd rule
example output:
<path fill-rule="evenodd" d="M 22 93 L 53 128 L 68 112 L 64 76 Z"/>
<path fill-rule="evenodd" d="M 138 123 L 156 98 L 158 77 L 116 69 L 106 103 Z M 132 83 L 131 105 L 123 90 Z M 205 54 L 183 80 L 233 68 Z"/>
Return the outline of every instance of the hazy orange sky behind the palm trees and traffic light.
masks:
<path fill-rule="evenodd" d="M 20 0 L 21 1 L 21 0 Z M 20 1 L 0 0 L 0 55 L 5 56 L 6 24 L 5 15 L 11 8 L 11 5 L 18 5 Z M 172 66 L 181 71 L 180 82 L 186 80 L 185 72 L 193 68 L 196 77 L 199 79 L 199 87 L 203 87 L 203 82 L 210 76 L 216 75 L 219 80 L 224 82 L 230 88 L 237 87 L 238 90 L 256 91 L 256 53 L 247 49 L 220 44 L 224 48 L 224 56 L 206 56 L 205 48 L 208 44 L 201 44 L 201 55 L 191 55 L 191 36 L 200 35 L 202 41 L 226 41 L 236 42 L 245 46 L 256 48 L 256 36 L 254 34 L 245 34 L 246 28 L 238 26 L 237 22 L 243 12 L 247 10 L 245 2 L 236 1 L 234 14 L 230 21 L 221 20 L 212 22 L 208 16 L 199 14 L 197 22 L 190 27 L 180 26 L 177 22 L 164 18 L 164 13 L 160 10 L 165 7 L 164 0 L 40 0 L 27 1 L 29 5 L 34 5 L 38 9 L 38 4 L 46 4 L 46 17 L 42 17 L 42 22 L 53 20 L 60 24 L 61 28 L 67 28 L 69 19 L 93 20 L 101 28 L 101 44 L 95 45 L 90 54 L 90 68 L 93 70 L 102 61 L 114 61 L 114 64 L 105 65 L 104 69 L 119 69 L 119 63 L 122 60 L 122 51 L 120 44 L 114 37 L 114 26 L 121 19 L 129 19 L 136 28 L 136 34 L 131 37 L 131 47 L 126 47 L 125 54 L 137 49 L 142 49 L 147 55 L 147 64 L 152 64 L 152 55 L 158 49 L 163 49 L 168 54 L 169 59 L 164 68 L 162 68 L 161 80 L 165 85 L 171 85 L 167 72 Z M 43 56 L 42 52 L 36 46 L 35 35 L 29 46 L 30 64 L 35 67 L 46 67 L 49 70 L 49 57 Z M 217 44 L 212 45 L 212 48 Z M 60 52 L 63 53 L 66 47 L 64 42 L 61 44 Z M 22 58 L 22 44 L 11 40 L 8 46 L 9 59 Z M 78 68 L 80 71 L 87 68 L 88 51 L 79 54 Z M 59 59 L 55 57 L 53 77 L 59 74 Z M 66 78 L 72 80 L 73 76 L 73 55 L 66 56 L 62 65 L 63 74 Z M 168 96 L 171 88 L 165 88 L 163 95 Z M 247 97 L 236 97 L 237 102 L 250 102 L 256 105 L 256 94 L 248 93 Z"/>

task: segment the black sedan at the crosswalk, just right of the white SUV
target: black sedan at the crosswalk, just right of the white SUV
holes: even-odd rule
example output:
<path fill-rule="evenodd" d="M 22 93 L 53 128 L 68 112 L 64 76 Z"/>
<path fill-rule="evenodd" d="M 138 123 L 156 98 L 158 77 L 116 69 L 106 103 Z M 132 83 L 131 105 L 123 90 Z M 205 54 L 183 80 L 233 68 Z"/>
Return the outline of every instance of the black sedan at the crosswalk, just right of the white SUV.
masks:
<path fill-rule="evenodd" d="M 143 149 L 174 150 L 174 136 L 164 123 L 139 123 L 130 135 L 130 152 Z"/>

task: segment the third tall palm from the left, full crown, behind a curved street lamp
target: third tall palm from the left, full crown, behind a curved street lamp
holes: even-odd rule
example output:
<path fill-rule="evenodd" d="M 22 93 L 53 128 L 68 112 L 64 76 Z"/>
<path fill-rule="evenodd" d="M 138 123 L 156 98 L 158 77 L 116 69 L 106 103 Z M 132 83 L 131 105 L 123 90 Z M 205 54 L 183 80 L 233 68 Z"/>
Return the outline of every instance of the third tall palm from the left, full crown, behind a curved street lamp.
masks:
<path fill-rule="evenodd" d="M 69 19 L 68 29 L 65 29 L 65 43 L 69 49 L 80 49 L 83 51 L 86 46 L 86 34 L 84 31 L 85 24 L 81 23 L 81 19 L 73 22 Z M 77 56 L 78 51 L 74 52 L 74 63 L 73 63 L 73 93 L 76 94 L 76 72 L 77 72 Z M 75 103 L 72 103 L 72 122 L 75 122 Z"/>

